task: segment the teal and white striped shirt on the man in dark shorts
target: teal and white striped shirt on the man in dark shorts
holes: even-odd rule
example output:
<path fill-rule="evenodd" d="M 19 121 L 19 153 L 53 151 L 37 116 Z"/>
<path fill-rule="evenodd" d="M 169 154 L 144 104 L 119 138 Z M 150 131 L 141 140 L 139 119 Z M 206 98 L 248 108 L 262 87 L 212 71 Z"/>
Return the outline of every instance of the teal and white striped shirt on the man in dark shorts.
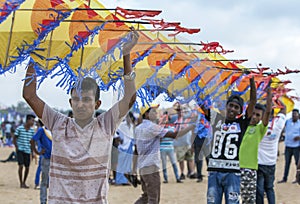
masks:
<path fill-rule="evenodd" d="M 26 130 L 24 125 L 17 127 L 15 131 L 15 136 L 17 138 L 18 150 L 31 154 L 30 140 L 34 135 L 34 129 L 30 128 Z"/>

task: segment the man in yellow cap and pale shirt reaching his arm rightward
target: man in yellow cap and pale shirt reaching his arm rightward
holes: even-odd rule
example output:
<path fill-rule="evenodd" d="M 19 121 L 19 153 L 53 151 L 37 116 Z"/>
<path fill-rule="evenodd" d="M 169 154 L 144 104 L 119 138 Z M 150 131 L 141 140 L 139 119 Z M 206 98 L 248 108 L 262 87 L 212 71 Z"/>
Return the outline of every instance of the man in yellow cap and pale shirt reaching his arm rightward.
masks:
<path fill-rule="evenodd" d="M 195 128 L 194 125 L 179 131 L 169 132 L 155 123 L 158 105 L 146 105 L 140 109 L 143 120 L 135 129 L 138 154 L 137 168 L 141 177 L 143 194 L 136 204 L 157 204 L 160 200 L 160 139 L 180 137 Z"/>

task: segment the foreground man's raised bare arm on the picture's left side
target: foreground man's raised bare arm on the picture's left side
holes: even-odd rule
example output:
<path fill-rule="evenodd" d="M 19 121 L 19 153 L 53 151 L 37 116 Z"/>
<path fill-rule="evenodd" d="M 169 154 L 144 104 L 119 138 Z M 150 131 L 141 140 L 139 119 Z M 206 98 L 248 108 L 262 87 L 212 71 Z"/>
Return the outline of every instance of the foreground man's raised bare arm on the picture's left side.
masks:
<path fill-rule="evenodd" d="M 30 82 L 31 77 L 33 76 L 33 80 Z M 36 76 L 35 70 L 33 68 L 33 64 L 30 63 L 27 68 L 26 77 L 29 77 L 25 80 L 23 85 L 23 98 L 28 103 L 28 105 L 32 108 L 35 114 L 42 118 L 43 110 L 45 106 L 45 102 L 41 100 L 36 94 Z M 28 84 L 28 82 L 30 82 Z"/>

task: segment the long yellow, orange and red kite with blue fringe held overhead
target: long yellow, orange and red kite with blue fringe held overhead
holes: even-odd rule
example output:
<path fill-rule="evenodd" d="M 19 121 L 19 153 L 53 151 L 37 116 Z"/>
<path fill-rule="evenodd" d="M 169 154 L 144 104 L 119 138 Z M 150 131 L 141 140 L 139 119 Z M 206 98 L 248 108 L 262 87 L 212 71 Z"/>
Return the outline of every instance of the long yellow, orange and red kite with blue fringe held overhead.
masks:
<path fill-rule="evenodd" d="M 60 77 L 57 86 L 67 91 L 77 79 L 92 76 L 101 90 L 123 86 L 122 46 L 130 27 L 140 38 L 132 55 L 137 95 L 150 103 L 161 93 L 166 100 L 224 108 L 231 92 L 249 97 L 249 77 L 264 98 L 271 84 L 277 107 L 282 100 L 293 108 L 288 82 L 277 76 L 295 73 L 247 68 L 245 60 L 226 59 L 218 42 L 179 40 L 181 33 L 198 33 L 179 22 L 158 20 L 159 10 L 107 9 L 97 0 L 0 0 L 0 74 L 14 73 L 17 65 L 34 61 L 39 83 Z M 245 104 L 246 105 L 246 104 Z"/>

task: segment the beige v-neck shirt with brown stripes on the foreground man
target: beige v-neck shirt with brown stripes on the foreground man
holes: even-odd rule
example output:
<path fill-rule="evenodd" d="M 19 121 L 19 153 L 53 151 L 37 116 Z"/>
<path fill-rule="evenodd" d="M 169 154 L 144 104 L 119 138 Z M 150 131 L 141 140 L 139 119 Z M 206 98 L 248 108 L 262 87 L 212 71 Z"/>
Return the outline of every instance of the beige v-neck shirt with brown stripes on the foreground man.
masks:
<path fill-rule="evenodd" d="M 112 135 L 119 107 L 94 118 L 84 128 L 45 105 L 43 123 L 52 132 L 49 204 L 107 203 Z"/>

